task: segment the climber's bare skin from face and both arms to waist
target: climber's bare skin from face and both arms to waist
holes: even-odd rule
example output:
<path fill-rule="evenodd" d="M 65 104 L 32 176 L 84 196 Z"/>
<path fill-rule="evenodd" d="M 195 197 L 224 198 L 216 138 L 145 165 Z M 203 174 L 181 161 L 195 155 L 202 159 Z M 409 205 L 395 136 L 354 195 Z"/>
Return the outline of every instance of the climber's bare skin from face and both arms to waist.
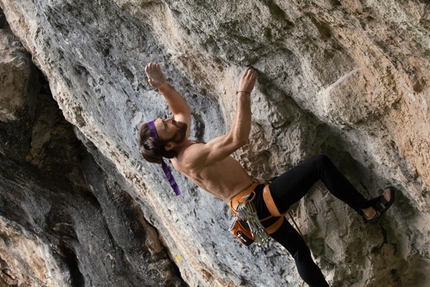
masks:
<path fill-rule="evenodd" d="M 191 124 L 190 108 L 184 98 L 166 81 L 160 65 L 155 62 L 149 63 L 145 67 L 145 73 L 149 84 L 161 92 L 173 113 L 173 117 L 165 120 L 158 118 L 153 124 L 159 138 L 170 139 L 164 147 L 166 151 L 178 152 L 177 156 L 171 159 L 175 169 L 204 190 L 225 201 L 229 201 L 249 186 L 252 182 L 251 177 L 230 154 L 249 140 L 250 95 L 258 77 L 257 71 L 248 67 L 239 80 L 236 93 L 237 111 L 230 132 L 207 143 L 196 143 L 188 139 Z M 184 140 L 178 139 L 181 133 L 178 123 L 187 126 Z"/>

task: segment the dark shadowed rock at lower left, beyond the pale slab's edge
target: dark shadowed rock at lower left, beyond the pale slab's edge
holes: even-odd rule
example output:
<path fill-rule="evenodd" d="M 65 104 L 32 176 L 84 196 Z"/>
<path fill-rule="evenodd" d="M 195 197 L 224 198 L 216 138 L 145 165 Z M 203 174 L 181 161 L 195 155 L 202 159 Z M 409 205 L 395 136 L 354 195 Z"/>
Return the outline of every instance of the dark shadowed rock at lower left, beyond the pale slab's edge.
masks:
<path fill-rule="evenodd" d="M 0 38 L 0 286 L 185 286 L 134 188 L 84 148 L 10 29 Z"/>

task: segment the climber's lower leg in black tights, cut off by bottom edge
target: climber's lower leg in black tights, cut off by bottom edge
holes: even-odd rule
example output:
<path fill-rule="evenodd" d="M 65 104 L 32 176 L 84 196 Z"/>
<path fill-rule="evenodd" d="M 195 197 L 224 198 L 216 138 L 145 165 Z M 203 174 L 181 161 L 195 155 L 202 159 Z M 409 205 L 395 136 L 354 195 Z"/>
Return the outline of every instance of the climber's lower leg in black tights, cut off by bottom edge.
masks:
<path fill-rule="evenodd" d="M 282 226 L 270 236 L 290 252 L 296 262 L 300 277 L 310 287 L 329 286 L 320 268 L 313 261 L 305 241 L 288 220 L 284 220 Z"/>

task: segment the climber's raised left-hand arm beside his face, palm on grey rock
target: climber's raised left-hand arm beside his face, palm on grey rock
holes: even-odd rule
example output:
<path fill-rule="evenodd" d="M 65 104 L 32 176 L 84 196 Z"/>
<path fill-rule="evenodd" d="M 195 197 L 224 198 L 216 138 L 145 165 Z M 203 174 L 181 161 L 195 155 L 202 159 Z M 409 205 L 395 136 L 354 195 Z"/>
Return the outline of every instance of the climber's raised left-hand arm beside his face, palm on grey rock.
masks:
<path fill-rule="evenodd" d="M 158 89 L 164 96 L 172 111 L 175 120 L 186 123 L 188 125 L 187 137 L 190 129 L 190 107 L 185 99 L 173 88 L 166 80 L 166 77 L 161 70 L 160 64 L 149 63 L 145 67 L 145 73 L 148 76 L 149 84 Z"/>

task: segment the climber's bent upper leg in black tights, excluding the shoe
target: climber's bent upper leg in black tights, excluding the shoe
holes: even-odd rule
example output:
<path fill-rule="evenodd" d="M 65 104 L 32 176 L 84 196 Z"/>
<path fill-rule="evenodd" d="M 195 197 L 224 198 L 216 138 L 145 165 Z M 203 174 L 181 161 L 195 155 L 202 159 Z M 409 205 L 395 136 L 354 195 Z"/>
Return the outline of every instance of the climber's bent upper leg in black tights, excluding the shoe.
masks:
<path fill-rule="evenodd" d="M 339 172 L 331 160 L 327 156 L 318 155 L 285 172 L 270 184 L 278 210 L 281 213 L 286 212 L 291 205 L 305 196 L 318 180 L 322 180 L 334 196 L 358 214 L 362 214 L 361 209 L 369 207 L 369 202 Z"/>

